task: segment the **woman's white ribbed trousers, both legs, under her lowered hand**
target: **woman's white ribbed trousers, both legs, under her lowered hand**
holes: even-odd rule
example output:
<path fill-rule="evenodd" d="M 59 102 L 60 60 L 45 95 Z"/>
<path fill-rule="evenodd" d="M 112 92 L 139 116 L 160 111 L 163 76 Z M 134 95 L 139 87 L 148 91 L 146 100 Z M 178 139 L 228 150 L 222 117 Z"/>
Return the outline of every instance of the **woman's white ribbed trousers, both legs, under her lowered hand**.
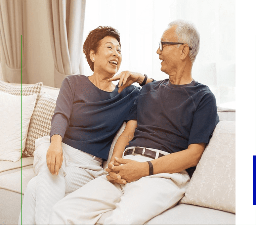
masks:
<path fill-rule="evenodd" d="M 57 176 L 46 164 L 50 137 L 35 141 L 34 172 L 26 188 L 18 224 L 48 224 L 52 206 L 87 182 L 103 174 L 102 160 L 62 143 L 63 163 Z"/>

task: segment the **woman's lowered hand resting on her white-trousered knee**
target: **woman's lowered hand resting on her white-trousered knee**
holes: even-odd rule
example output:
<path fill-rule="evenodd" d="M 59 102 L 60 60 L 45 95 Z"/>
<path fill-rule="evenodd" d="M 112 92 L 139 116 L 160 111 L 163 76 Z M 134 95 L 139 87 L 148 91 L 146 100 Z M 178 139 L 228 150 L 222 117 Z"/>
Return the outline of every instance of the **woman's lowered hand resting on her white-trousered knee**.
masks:
<path fill-rule="evenodd" d="M 59 169 L 63 162 L 61 136 L 56 135 L 51 137 L 51 144 L 46 153 L 46 163 L 52 175 L 59 174 Z"/>

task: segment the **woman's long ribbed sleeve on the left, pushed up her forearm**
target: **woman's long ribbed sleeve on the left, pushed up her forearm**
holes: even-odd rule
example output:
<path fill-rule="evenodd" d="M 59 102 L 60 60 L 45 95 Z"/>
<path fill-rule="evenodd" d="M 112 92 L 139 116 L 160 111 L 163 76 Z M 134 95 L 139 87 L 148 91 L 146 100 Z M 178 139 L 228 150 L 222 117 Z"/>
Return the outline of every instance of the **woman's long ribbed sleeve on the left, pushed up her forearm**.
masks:
<path fill-rule="evenodd" d="M 69 78 L 65 78 L 62 81 L 59 95 L 56 100 L 54 114 L 51 119 L 50 140 L 54 134 L 59 134 L 63 140 L 65 132 L 69 126 L 69 119 L 73 108 L 74 94 L 74 84 L 72 84 Z"/>

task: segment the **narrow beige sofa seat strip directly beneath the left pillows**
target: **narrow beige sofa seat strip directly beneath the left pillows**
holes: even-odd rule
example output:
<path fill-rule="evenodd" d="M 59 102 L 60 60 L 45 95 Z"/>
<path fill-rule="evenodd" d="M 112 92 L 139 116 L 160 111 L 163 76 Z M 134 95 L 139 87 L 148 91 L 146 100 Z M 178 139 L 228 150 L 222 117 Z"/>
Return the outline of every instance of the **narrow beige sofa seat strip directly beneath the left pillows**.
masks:
<path fill-rule="evenodd" d="M 4 174 L 14 173 L 21 170 L 21 168 L 33 168 L 34 157 L 26 157 L 18 160 L 17 162 L 0 161 L 0 176 Z"/>

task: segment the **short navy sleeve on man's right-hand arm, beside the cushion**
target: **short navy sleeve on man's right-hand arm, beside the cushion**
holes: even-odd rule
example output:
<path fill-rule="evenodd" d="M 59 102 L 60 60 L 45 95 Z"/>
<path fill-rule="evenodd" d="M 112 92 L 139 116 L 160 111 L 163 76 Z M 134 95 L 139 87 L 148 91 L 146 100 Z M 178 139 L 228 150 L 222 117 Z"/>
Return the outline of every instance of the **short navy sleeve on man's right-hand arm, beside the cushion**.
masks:
<path fill-rule="evenodd" d="M 188 145 L 193 143 L 208 144 L 218 122 L 216 99 L 214 94 L 208 91 L 194 113 Z"/>

